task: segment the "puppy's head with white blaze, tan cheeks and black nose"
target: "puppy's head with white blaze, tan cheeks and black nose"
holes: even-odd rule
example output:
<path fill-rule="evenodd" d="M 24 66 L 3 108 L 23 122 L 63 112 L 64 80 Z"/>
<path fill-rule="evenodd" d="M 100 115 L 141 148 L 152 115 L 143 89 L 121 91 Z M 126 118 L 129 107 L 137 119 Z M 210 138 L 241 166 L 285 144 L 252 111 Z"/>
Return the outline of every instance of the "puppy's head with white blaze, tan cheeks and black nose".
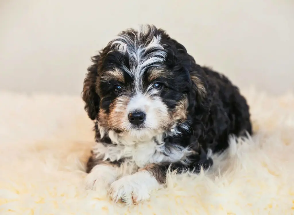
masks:
<path fill-rule="evenodd" d="M 136 138 L 165 132 L 205 93 L 186 48 L 155 26 L 121 32 L 92 61 L 83 100 L 106 130 Z"/>

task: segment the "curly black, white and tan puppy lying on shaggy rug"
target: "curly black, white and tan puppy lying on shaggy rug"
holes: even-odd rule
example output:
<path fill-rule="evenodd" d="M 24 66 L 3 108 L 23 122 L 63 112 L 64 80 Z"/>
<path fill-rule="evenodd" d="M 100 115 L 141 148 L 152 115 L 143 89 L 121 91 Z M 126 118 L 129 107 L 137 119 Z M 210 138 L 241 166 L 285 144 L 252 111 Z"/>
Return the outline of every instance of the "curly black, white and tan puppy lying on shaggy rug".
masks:
<path fill-rule="evenodd" d="M 162 29 L 123 31 L 92 61 L 82 94 L 96 131 L 86 183 L 108 186 L 113 201 L 146 200 L 169 167 L 207 169 L 229 135 L 252 133 L 238 88 Z"/>

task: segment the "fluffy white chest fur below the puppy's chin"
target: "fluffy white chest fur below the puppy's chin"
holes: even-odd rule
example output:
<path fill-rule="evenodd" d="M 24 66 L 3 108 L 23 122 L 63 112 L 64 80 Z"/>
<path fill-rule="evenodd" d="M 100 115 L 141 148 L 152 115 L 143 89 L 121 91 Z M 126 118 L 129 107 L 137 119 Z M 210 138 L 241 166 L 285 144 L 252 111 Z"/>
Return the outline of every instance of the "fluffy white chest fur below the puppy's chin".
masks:
<path fill-rule="evenodd" d="M 139 168 L 143 168 L 150 163 L 177 161 L 184 163 L 186 156 L 191 154 L 188 148 L 180 146 L 169 146 L 167 148 L 162 141 L 163 135 L 144 141 L 121 138 L 113 131 L 110 131 L 108 136 L 116 145 L 104 146 L 102 143 L 97 143 L 93 152 L 98 159 L 115 161 L 124 158 L 133 162 Z"/>

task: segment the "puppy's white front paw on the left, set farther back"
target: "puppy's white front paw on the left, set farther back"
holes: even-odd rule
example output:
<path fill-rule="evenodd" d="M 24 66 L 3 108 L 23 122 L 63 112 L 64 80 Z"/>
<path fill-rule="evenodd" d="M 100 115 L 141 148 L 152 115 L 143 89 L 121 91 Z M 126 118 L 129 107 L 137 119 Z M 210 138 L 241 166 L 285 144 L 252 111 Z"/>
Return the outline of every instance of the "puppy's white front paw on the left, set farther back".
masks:
<path fill-rule="evenodd" d="M 86 176 L 85 183 L 86 189 L 96 190 L 97 187 L 108 187 L 117 178 L 117 168 L 106 165 L 98 164 Z"/>

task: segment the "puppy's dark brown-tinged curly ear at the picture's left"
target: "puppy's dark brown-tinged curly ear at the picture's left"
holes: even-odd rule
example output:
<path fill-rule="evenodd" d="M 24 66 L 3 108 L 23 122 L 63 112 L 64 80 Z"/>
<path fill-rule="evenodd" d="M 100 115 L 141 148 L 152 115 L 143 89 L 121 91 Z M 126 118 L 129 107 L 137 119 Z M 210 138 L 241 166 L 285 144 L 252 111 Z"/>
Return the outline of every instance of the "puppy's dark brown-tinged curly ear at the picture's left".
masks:
<path fill-rule="evenodd" d="M 96 80 L 98 78 L 98 63 L 100 55 L 91 58 L 94 63 L 88 68 L 88 73 L 84 80 L 82 98 L 85 102 L 85 110 L 91 120 L 95 120 L 99 112 L 100 98 L 96 92 Z"/>

